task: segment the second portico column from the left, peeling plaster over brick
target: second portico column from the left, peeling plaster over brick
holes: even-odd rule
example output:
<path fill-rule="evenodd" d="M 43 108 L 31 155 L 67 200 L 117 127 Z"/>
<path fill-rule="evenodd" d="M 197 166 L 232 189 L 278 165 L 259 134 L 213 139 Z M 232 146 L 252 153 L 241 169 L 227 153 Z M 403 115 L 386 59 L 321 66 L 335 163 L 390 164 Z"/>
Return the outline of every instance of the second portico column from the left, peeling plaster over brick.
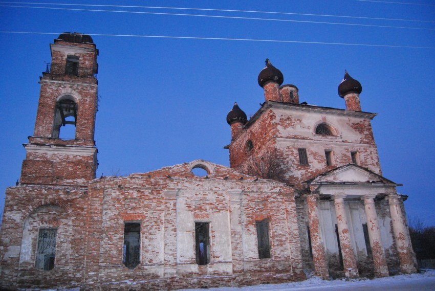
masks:
<path fill-rule="evenodd" d="M 357 278 L 358 267 L 352 248 L 349 223 L 347 223 L 346 209 L 344 208 L 344 197 L 346 195 L 334 195 L 335 214 L 337 215 L 338 236 L 340 238 L 341 253 L 343 255 L 343 267 L 346 277 Z"/>

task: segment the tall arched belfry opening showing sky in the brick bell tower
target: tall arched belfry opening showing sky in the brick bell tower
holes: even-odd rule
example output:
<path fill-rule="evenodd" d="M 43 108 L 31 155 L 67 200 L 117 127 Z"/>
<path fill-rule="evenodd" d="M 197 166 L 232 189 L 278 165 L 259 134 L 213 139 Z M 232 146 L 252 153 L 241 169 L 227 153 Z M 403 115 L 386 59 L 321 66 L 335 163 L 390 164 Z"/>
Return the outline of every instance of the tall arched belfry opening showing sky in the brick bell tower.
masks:
<path fill-rule="evenodd" d="M 67 97 L 57 101 L 52 137 L 65 140 L 75 139 L 76 124 L 77 104 L 74 100 L 71 97 Z M 60 130 L 62 126 L 65 128 Z"/>

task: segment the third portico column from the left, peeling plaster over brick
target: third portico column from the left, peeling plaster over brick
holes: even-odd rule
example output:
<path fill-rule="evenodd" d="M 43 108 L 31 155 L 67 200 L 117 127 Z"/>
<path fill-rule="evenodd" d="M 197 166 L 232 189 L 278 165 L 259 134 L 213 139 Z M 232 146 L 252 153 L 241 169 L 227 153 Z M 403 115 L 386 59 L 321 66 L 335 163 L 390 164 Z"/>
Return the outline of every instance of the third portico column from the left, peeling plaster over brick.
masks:
<path fill-rule="evenodd" d="M 364 195 L 365 216 L 367 221 L 368 238 L 372 247 L 373 264 L 376 277 L 387 277 L 388 266 L 382 245 L 381 231 L 379 230 L 378 215 L 376 214 L 375 195 Z"/>

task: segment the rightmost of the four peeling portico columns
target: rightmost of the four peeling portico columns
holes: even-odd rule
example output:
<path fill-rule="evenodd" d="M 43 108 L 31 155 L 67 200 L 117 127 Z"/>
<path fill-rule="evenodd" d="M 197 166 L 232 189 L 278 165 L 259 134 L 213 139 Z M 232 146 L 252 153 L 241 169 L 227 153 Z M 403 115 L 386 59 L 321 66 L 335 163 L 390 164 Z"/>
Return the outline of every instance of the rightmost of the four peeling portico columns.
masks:
<path fill-rule="evenodd" d="M 396 193 L 388 195 L 387 199 L 393 222 L 397 252 L 399 253 L 400 271 L 407 274 L 416 273 L 414 252 L 412 251 L 408 228 L 405 225 L 405 219 L 402 214 L 402 202 Z"/>

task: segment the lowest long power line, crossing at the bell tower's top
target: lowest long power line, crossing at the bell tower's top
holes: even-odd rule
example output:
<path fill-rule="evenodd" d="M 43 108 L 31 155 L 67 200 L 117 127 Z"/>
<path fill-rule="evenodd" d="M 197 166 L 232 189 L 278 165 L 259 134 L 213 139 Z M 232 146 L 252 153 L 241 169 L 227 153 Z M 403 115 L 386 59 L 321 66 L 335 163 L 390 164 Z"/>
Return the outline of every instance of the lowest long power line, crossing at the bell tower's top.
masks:
<path fill-rule="evenodd" d="M 17 34 L 55 34 L 59 32 L 26 32 L 26 31 L 0 31 L 0 33 Z M 135 34 L 101 34 L 88 33 L 91 36 L 117 36 L 117 37 L 149 37 L 149 38 L 178 38 L 178 39 L 205 39 L 205 40 L 237 40 L 237 41 L 262 41 L 262 42 L 281 42 L 281 43 L 305 43 L 305 44 L 334 44 L 338 46 L 359 46 L 359 47 L 381 47 L 381 48 L 403 48 L 403 49 L 435 49 L 435 47 L 415 47 L 415 46 L 391 46 L 389 44 L 365 44 L 365 43 L 345 43 L 345 42 L 321 42 L 321 41 L 299 41 L 299 40 L 274 40 L 274 39 L 252 39 L 252 38 L 222 38 L 222 37 L 194 37 L 194 36 L 165 36 L 165 35 L 135 35 Z"/>

